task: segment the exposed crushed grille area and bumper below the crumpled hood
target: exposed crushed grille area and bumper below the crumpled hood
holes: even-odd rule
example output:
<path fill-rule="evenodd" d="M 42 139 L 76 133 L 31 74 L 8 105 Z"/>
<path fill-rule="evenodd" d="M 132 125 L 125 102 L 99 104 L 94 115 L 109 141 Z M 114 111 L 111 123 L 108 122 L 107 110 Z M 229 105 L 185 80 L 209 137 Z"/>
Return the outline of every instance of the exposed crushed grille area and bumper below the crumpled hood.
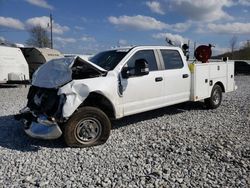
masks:
<path fill-rule="evenodd" d="M 28 103 L 16 115 L 24 123 L 24 131 L 33 138 L 56 139 L 62 135 L 60 123 L 64 122 L 62 107 L 65 95 L 57 95 L 58 89 L 31 86 Z"/>

